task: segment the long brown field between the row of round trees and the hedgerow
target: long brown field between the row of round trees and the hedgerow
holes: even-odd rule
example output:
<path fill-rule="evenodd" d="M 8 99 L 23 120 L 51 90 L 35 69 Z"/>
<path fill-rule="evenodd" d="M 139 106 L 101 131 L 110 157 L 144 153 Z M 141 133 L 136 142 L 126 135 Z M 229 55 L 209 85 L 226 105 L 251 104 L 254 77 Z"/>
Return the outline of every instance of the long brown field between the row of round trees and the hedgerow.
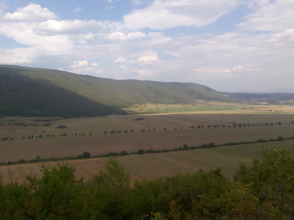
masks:
<path fill-rule="evenodd" d="M 139 121 L 140 123 L 142 121 Z M 144 122 L 144 121 L 143 121 Z M 146 123 L 146 122 L 145 122 Z M 197 125 L 197 124 L 196 124 Z M 194 128 L 168 131 L 149 131 L 137 133 L 107 134 L 95 136 L 73 136 L 58 138 L 41 138 L 0 142 L 0 162 L 20 159 L 76 157 L 83 151 L 91 155 L 113 152 L 137 151 L 138 149 L 171 149 L 182 146 L 198 146 L 214 142 L 255 141 L 259 138 L 270 139 L 293 136 L 294 124 L 284 123 L 273 126 L 246 126 L 242 128 Z"/>

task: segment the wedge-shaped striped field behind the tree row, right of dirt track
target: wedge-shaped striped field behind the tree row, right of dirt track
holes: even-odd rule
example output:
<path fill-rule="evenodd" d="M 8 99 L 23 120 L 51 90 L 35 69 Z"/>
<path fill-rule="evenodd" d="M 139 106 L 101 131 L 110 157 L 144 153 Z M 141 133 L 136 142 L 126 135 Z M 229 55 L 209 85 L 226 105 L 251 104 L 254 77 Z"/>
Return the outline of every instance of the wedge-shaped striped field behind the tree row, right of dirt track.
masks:
<path fill-rule="evenodd" d="M 143 117 L 145 120 L 135 121 L 136 118 Z M 198 125 L 230 125 L 230 123 L 223 123 L 219 121 L 203 120 L 196 118 L 188 117 L 178 117 L 175 115 L 166 115 L 166 114 L 148 114 L 148 115 L 110 115 L 105 117 L 88 117 L 88 118 L 77 118 L 77 119 L 64 119 L 58 121 L 51 121 L 52 125 L 45 129 L 45 137 L 49 137 L 53 134 L 54 136 L 62 135 L 66 133 L 66 136 L 78 136 L 83 133 L 85 135 L 98 135 L 103 134 L 104 131 L 108 133 L 112 130 L 119 131 L 123 133 L 125 130 L 131 132 L 131 129 L 134 132 L 141 132 L 142 129 L 145 129 L 147 132 L 148 129 L 153 131 L 153 128 L 158 130 L 167 130 L 180 129 L 191 129 L 191 126 Z M 56 128 L 58 125 L 66 125 L 67 128 Z"/>

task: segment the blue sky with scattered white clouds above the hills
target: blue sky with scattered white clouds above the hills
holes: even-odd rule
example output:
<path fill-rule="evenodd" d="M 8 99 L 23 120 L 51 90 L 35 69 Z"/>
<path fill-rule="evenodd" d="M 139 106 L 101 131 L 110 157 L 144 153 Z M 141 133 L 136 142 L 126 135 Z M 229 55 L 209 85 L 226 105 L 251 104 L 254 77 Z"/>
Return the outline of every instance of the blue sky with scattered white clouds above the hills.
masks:
<path fill-rule="evenodd" d="M 0 64 L 294 88 L 293 0 L 0 0 Z"/>

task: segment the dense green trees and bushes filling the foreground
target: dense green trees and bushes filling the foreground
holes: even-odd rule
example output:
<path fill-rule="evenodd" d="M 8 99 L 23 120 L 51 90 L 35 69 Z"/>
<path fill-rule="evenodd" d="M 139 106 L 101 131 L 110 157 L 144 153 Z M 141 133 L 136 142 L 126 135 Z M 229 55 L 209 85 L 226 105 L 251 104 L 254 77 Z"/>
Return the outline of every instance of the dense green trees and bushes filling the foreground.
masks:
<path fill-rule="evenodd" d="M 281 149 L 264 150 L 251 167 L 240 165 L 233 180 L 219 168 L 131 185 L 114 158 L 86 182 L 76 180 L 75 170 L 68 163 L 43 165 L 41 178 L 0 184 L 0 219 L 294 218 L 294 155 Z"/>

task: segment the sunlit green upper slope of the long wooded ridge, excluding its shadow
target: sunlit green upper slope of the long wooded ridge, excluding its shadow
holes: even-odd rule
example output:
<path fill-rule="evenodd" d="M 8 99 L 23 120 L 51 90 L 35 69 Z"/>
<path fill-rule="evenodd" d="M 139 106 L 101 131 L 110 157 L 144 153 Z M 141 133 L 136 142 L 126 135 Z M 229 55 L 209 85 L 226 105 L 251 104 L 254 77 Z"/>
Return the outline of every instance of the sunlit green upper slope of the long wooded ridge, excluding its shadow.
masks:
<path fill-rule="evenodd" d="M 52 86 L 108 106 L 127 107 L 139 103 L 192 103 L 195 99 L 238 101 L 207 86 L 196 83 L 115 80 L 78 75 L 60 70 L 0 65 L 0 72 L 15 73 L 30 79 L 42 80 Z"/>

